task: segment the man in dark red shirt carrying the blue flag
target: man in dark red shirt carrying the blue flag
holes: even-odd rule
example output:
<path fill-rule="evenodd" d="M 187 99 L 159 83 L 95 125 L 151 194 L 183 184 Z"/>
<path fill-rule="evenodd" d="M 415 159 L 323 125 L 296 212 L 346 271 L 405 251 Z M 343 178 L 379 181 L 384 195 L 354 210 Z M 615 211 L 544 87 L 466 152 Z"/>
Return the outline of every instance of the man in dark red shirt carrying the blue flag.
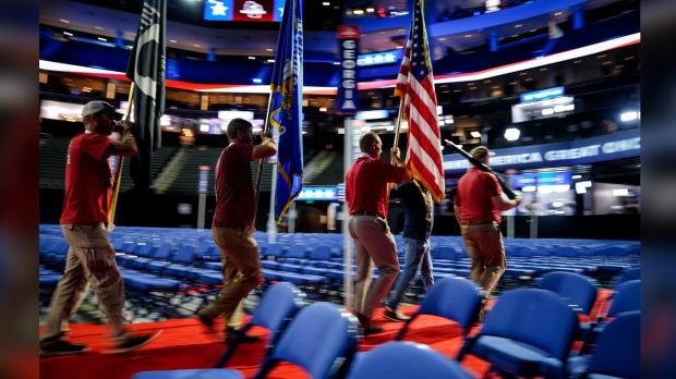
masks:
<path fill-rule="evenodd" d="M 216 163 L 216 212 L 212 236 L 220 249 L 224 288 L 218 298 L 197 313 L 197 318 L 215 333 L 214 319 L 226 318 L 226 343 L 240 329 L 241 302 L 263 279 L 261 252 L 254 232 L 255 204 L 251 178 L 251 161 L 277 154 L 277 146 L 269 133 L 263 135 L 261 145 L 253 146 L 255 136 L 251 122 L 233 119 L 227 129 L 228 145 Z M 253 342 L 257 337 L 245 337 Z"/>

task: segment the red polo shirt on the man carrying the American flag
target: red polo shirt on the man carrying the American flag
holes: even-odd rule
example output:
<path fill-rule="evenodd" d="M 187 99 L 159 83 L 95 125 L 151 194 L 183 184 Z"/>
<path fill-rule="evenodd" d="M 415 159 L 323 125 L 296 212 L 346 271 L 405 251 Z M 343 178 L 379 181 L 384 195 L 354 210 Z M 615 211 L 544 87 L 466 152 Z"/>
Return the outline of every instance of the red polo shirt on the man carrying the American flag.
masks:
<path fill-rule="evenodd" d="M 387 183 L 401 183 L 406 168 L 382 159 L 358 158 L 346 176 L 345 198 L 350 215 L 369 211 L 387 218 L 389 192 Z"/>

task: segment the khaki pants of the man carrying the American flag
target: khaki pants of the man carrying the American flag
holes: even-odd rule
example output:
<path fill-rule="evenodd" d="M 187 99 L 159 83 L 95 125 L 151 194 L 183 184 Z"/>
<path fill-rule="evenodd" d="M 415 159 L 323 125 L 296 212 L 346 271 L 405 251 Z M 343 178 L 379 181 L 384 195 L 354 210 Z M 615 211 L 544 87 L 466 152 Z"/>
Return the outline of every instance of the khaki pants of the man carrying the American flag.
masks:
<path fill-rule="evenodd" d="M 399 274 L 395 237 L 387 221 L 375 216 L 350 216 L 348 229 L 354 241 L 357 280 L 352 308 L 371 318 Z M 373 264 L 381 270 L 371 286 Z M 349 267 L 346 267 L 349 270 Z"/>

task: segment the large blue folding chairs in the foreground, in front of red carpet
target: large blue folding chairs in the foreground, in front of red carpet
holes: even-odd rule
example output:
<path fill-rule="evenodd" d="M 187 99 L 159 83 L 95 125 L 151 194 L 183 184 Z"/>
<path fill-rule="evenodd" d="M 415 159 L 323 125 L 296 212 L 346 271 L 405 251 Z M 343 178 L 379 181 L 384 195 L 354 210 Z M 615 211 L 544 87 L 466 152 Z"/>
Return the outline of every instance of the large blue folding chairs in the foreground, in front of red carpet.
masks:
<path fill-rule="evenodd" d="M 623 291 L 618 290 L 614 302 L 624 296 Z M 352 315 L 329 303 L 305 305 L 301 291 L 281 282 L 267 289 L 249 323 L 213 368 L 146 371 L 133 378 L 242 378 L 241 372 L 222 367 L 254 326 L 270 331 L 255 378 L 265 378 L 280 362 L 300 366 L 313 378 L 472 378 L 460 366 L 467 355 L 488 362 L 490 371 L 505 378 L 640 377 L 639 310 L 625 309 L 614 315 L 604 323 L 589 354 L 572 355 L 579 319 L 571 304 L 558 293 L 542 289 L 508 291 L 487 314 L 481 330 L 468 337 L 481 298 L 481 289 L 469 280 L 440 280 L 395 341 L 357 353 L 362 334 Z M 456 359 L 430 346 L 402 341 L 409 326 L 421 315 L 460 325 L 464 343 Z"/>

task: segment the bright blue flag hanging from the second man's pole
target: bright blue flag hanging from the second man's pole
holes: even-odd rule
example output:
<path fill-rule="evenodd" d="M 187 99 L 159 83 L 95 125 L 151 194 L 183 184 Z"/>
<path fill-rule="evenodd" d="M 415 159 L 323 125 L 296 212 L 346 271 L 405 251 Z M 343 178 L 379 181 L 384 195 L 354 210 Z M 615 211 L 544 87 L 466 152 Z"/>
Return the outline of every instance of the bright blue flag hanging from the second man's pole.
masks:
<path fill-rule="evenodd" d="M 275 222 L 303 187 L 303 2 L 286 0 L 275 69 L 270 83 L 273 91 L 269 124 L 279 132 L 277 144 L 277 188 L 275 191 Z"/>

